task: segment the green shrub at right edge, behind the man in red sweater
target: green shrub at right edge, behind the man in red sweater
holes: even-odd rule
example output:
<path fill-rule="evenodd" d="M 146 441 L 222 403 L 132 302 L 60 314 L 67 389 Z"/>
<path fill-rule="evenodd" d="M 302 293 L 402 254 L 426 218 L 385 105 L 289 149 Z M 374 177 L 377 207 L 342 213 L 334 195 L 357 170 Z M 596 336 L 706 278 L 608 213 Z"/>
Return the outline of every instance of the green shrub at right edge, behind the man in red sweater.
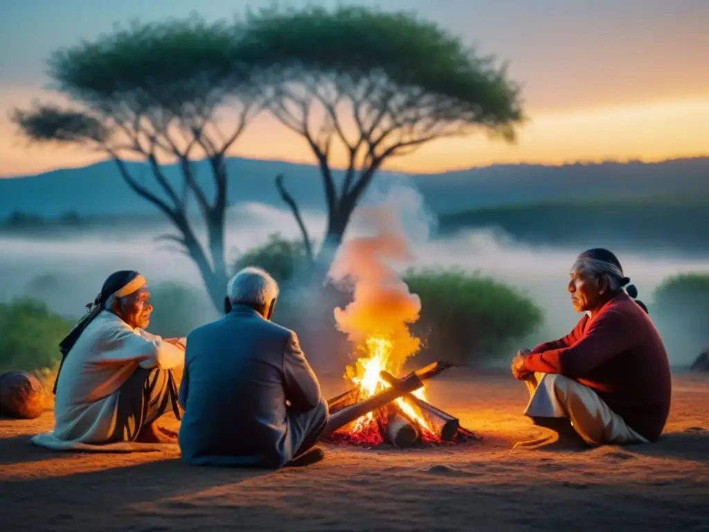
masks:
<path fill-rule="evenodd" d="M 655 289 L 649 311 L 671 360 L 690 363 L 709 345 L 709 273 L 664 279 Z"/>

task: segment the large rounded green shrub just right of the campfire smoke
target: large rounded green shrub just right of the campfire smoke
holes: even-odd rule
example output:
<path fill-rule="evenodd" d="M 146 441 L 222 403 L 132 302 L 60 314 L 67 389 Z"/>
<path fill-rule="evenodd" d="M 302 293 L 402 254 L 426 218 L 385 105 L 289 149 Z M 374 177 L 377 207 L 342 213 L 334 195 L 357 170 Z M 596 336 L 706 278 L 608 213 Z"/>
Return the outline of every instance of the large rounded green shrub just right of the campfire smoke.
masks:
<path fill-rule="evenodd" d="M 542 323 L 542 311 L 512 287 L 490 277 L 457 270 L 424 270 L 404 277 L 421 299 L 412 327 L 423 339 L 417 364 L 449 360 L 481 362 L 510 350 Z"/>

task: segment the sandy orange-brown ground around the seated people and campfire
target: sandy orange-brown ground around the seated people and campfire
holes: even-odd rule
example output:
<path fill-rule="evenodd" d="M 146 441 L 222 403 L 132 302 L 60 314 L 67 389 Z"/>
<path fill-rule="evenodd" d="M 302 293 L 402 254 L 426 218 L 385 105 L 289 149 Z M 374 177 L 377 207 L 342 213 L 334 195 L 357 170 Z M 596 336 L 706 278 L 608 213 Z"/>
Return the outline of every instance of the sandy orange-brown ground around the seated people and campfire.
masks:
<path fill-rule="evenodd" d="M 484 440 L 330 446 L 311 467 L 264 472 L 191 467 L 175 448 L 51 453 L 28 445 L 52 428 L 50 412 L 0 420 L 0 530 L 709 531 L 709 377 L 676 377 L 660 443 L 576 452 L 511 449 L 542 433 L 521 416 L 527 395 L 511 377 L 451 370 L 428 397 Z"/>

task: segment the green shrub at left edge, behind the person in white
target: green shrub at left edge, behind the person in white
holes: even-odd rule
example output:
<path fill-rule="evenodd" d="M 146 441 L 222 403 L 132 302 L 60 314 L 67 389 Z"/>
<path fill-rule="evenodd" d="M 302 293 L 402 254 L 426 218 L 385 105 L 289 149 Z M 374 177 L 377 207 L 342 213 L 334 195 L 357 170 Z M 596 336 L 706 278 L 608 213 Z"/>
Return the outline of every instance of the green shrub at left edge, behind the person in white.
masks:
<path fill-rule="evenodd" d="M 0 303 L 0 372 L 55 367 L 62 358 L 59 343 L 73 326 L 40 301 Z"/>

